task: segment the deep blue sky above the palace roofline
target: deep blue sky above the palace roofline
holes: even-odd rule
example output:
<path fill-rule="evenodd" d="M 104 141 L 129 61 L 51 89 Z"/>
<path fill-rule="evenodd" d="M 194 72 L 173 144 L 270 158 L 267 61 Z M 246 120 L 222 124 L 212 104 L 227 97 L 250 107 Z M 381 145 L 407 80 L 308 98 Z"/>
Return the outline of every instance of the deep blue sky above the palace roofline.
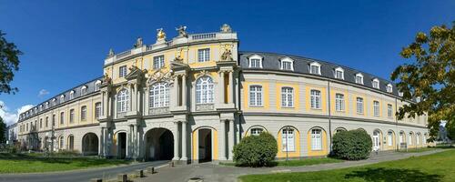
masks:
<path fill-rule="evenodd" d="M 286 3 L 284 3 L 286 2 Z M 455 2 L 439 1 L 5 1 L 0 29 L 24 52 L 15 95 L 0 95 L 0 116 L 102 75 L 107 51 L 155 42 L 175 27 L 189 33 L 238 32 L 240 49 L 308 56 L 389 79 L 404 63 L 401 47 L 419 31 L 455 20 Z"/>

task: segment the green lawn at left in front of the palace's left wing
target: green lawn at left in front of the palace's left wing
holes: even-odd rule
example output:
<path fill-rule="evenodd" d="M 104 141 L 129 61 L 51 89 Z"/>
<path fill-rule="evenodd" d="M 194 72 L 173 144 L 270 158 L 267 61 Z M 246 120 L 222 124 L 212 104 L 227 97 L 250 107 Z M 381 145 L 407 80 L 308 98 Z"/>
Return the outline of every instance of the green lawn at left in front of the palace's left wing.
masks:
<path fill-rule="evenodd" d="M 97 157 L 42 157 L 36 154 L 0 154 L 0 174 L 65 171 L 88 167 L 109 167 L 129 163 L 130 161 L 126 160 Z"/>

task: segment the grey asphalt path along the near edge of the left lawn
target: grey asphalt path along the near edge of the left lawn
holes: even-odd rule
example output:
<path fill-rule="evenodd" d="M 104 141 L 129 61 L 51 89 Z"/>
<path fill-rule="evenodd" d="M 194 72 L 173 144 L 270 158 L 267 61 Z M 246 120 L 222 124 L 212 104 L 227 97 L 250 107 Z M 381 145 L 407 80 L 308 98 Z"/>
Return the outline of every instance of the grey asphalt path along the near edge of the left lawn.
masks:
<path fill-rule="evenodd" d="M 119 173 L 131 173 L 136 169 L 147 167 L 159 167 L 167 164 L 168 161 L 154 161 L 125 165 L 120 167 L 101 167 L 90 168 L 74 171 L 52 172 L 52 173 L 34 173 L 34 174 L 0 174 L 0 182 L 79 182 L 90 181 L 91 178 L 115 178 Z"/>

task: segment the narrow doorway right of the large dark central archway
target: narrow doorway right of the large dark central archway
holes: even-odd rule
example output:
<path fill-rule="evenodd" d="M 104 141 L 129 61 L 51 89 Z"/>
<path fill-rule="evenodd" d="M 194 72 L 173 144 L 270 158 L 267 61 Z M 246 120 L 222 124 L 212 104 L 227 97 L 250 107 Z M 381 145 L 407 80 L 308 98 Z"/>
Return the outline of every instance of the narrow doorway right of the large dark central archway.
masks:
<path fill-rule="evenodd" d="M 212 130 L 199 129 L 199 163 L 208 162 L 212 160 Z"/>

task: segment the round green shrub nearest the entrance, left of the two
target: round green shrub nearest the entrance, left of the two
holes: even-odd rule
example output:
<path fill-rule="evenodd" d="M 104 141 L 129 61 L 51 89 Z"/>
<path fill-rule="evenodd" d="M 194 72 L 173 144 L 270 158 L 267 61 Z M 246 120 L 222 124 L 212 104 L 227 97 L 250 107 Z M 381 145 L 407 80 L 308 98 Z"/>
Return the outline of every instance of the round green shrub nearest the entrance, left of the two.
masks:
<path fill-rule="evenodd" d="M 239 166 L 265 167 L 277 156 L 277 140 L 267 132 L 246 136 L 234 147 L 234 161 Z"/>

